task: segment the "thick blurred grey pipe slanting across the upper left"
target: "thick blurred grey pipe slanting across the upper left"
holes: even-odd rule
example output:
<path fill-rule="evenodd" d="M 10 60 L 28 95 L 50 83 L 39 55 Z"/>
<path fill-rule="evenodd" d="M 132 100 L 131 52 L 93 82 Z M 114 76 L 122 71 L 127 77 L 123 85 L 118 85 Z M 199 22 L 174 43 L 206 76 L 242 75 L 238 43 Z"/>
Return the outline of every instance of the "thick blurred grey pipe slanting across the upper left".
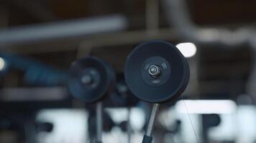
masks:
<path fill-rule="evenodd" d="M 35 41 L 86 36 L 127 27 L 127 19 L 122 15 L 97 16 L 32 26 L 19 26 L 0 31 L 0 44 L 24 44 Z"/>

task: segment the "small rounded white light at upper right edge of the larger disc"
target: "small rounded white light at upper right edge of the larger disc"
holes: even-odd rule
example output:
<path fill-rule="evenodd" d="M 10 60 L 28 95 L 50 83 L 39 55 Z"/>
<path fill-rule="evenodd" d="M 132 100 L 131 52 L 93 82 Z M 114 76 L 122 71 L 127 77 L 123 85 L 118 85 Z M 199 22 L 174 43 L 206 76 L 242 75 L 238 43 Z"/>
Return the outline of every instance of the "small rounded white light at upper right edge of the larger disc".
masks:
<path fill-rule="evenodd" d="M 196 45 L 193 43 L 180 43 L 176 45 L 178 50 L 185 56 L 186 58 L 190 58 L 196 54 Z"/>

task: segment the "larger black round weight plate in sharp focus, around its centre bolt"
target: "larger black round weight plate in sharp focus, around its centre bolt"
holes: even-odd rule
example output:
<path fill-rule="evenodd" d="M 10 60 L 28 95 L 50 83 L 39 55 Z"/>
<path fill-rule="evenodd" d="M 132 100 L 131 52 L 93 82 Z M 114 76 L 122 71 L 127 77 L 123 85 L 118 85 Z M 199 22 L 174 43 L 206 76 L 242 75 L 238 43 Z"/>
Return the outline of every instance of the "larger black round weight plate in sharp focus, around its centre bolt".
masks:
<path fill-rule="evenodd" d="M 152 77 L 150 65 L 160 68 Z M 131 92 L 145 102 L 163 103 L 178 98 L 189 80 L 188 63 L 180 51 L 167 41 L 147 41 L 127 57 L 124 77 Z"/>

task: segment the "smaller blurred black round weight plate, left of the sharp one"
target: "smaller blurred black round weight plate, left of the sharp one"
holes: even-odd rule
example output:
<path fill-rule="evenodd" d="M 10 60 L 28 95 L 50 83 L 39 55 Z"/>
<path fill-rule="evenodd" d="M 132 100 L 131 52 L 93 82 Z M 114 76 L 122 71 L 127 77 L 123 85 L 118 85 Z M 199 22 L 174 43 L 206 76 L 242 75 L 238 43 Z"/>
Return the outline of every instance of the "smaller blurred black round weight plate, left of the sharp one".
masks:
<path fill-rule="evenodd" d="M 69 70 L 68 89 L 85 103 L 98 102 L 114 89 L 114 70 L 105 61 L 90 56 L 73 62 Z"/>

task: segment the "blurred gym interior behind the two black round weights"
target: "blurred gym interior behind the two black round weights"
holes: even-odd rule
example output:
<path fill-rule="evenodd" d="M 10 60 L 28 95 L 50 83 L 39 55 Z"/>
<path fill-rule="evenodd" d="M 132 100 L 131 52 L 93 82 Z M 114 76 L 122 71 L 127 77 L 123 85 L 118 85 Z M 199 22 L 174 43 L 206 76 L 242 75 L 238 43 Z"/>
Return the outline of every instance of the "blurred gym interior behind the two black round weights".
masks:
<path fill-rule="evenodd" d="M 150 39 L 175 44 L 191 69 L 183 96 L 161 107 L 154 142 L 256 142 L 255 5 L 0 1 L 0 142 L 93 142 L 89 107 L 63 84 L 70 64 L 97 56 L 122 83 L 127 55 Z M 141 142 L 149 112 L 150 105 L 137 100 L 132 107 L 104 108 L 104 143 Z"/>

